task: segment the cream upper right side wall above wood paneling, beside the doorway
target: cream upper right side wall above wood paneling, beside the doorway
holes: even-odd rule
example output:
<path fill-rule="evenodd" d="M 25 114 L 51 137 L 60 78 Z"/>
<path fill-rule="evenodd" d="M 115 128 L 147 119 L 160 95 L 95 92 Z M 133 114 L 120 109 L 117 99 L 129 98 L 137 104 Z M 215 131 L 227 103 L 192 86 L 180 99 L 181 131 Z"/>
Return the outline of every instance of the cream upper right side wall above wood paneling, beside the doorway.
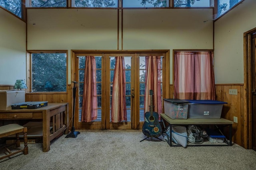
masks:
<path fill-rule="evenodd" d="M 214 23 L 216 84 L 244 83 L 244 32 L 256 27 L 256 0 L 245 0 Z"/>

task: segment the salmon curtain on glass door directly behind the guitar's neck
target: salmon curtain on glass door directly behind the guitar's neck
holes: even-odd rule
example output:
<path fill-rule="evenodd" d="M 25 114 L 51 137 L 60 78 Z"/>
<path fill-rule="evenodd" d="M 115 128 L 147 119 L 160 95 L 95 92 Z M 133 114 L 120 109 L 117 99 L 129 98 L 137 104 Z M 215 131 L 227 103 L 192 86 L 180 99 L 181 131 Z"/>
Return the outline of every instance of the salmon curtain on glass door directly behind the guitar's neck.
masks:
<path fill-rule="evenodd" d="M 145 112 L 150 111 L 149 90 L 153 90 L 153 111 L 162 113 L 161 56 L 146 56 Z M 160 116 L 159 116 L 160 118 Z"/>

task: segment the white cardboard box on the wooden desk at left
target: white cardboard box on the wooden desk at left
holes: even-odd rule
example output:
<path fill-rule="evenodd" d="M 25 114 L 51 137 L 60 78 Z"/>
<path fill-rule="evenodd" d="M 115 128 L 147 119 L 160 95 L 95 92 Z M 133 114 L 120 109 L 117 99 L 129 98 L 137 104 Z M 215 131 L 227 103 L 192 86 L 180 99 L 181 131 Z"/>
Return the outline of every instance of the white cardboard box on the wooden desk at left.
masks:
<path fill-rule="evenodd" d="M 0 110 L 12 109 L 12 104 L 25 102 L 24 90 L 0 90 Z"/>

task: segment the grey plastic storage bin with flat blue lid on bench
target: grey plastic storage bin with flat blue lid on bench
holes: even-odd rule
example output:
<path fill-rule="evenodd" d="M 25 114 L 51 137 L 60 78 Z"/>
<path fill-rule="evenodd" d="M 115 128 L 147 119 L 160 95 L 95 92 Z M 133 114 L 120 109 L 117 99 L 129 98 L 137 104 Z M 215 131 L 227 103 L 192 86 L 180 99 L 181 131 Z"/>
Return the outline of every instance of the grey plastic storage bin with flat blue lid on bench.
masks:
<path fill-rule="evenodd" d="M 216 100 L 187 100 L 191 119 L 220 119 L 222 107 L 227 102 Z"/>

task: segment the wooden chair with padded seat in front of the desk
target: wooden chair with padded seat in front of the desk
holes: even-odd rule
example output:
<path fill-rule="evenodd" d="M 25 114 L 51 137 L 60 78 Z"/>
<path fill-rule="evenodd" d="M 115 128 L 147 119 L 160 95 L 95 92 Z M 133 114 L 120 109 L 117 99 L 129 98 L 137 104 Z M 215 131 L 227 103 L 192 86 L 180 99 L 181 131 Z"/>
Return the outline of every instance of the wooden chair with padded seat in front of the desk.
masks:
<path fill-rule="evenodd" d="M 23 152 L 24 154 L 28 154 L 27 127 L 23 127 L 23 126 L 20 126 L 18 124 L 9 124 L 9 125 L 0 126 L 0 138 L 16 134 L 16 147 L 17 148 L 20 147 L 20 137 L 19 137 L 20 132 L 23 132 L 23 135 L 24 135 L 24 148 L 20 149 L 18 151 L 12 152 L 11 150 L 8 149 L 7 146 L 5 146 L 4 149 L 8 152 L 8 154 L 6 154 L 4 156 L 1 156 L 0 160 L 3 159 L 3 158 L 10 157 L 10 156 L 12 156 L 14 154 L 17 154 L 19 152 Z"/>

